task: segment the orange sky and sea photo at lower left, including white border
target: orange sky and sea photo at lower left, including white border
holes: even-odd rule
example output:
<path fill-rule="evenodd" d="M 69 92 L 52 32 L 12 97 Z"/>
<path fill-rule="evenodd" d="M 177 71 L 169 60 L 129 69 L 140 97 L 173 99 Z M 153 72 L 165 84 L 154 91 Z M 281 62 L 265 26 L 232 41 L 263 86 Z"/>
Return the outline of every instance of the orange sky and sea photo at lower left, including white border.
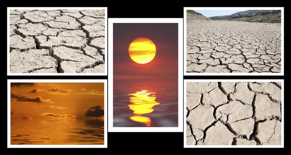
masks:
<path fill-rule="evenodd" d="M 7 80 L 7 148 L 107 148 L 107 80 Z"/>

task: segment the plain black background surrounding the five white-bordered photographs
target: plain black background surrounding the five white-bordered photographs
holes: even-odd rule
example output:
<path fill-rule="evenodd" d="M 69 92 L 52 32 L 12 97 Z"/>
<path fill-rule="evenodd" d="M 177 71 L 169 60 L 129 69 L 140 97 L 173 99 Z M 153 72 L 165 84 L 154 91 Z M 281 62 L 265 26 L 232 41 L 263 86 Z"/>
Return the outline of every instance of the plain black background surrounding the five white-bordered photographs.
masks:
<path fill-rule="evenodd" d="M 212 1 L 206 1 L 206 0 L 192 0 L 192 1 L 113 1 L 113 0 L 95 0 L 95 1 L 89 1 L 89 0 L 81 0 L 81 1 L 53 1 L 53 0 L 47 0 L 47 1 L 2 1 L 3 3 L 10 3 L 8 6 L 3 8 L 2 15 L 6 14 L 7 16 L 7 7 L 107 7 L 107 15 L 108 18 L 183 18 L 184 16 L 184 8 L 183 7 L 284 7 L 283 3 L 279 3 L 278 1 L 246 1 L 246 0 L 232 0 L 232 1 L 215 1 L 216 3 Z M 107 4 L 106 4 L 107 3 Z M 191 4 L 192 3 L 192 4 Z M 160 6 L 158 6 L 160 5 Z M 284 21 L 285 23 L 289 23 L 290 19 L 288 16 L 288 8 L 284 7 Z M 4 13 L 5 12 L 5 13 Z M 7 20 L 6 16 L 2 16 L 2 22 L 5 22 L 1 24 L 2 30 L 5 29 L 7 31 Z M 287 25 L 287 24 L 285 24 Z M 288 46 L 288 41 L 285 39 L 287 34 L 289 34 L 289 27 L 286 27 L 284 25 L 284 43 L 285 47 Z M 5 26 L 5 27 L 4 27 Z M 185 30 L 184 30 L 185 31 Z M 8 33 L 8 32 L 6 32 Z M 4 34 L 3 34 L 4 35 Z M 6 37 L 6 34 L 5 34 Z M 2 37 L 3 39 L 4 37 Z M 185 41 L 185 40 L 184 40 Z M 2 44 L 2 46 L 5 46 L 7 51 L 7 40 L 6 44 Z M 284 47 L 284 51 L 285 48 Z M 107 49 L 112 48 L 108 47 Z M 8 76 L 7 75 L 7 52 L 2 49 L 2 52 L 5 52 L 5 56 L 3 59 L 6 59 L 6 61 L 1 61 L 2 63 L 5 63 L 2 65 L 2 72 L 6 72 L 6 85 L 7 86 L 7 80 L 8 79 L 108 79 L 108 76 Z M 184 51 L 185 52 L 185 51 Z M 287 53 L 284 53 L 284 60 L 288 61 L 286 59 Z M 112 53 L 106 53 L 108 55 Z M 4 56 L 4 55 L 2 55 Z M 106 62 L 108 62 L 108 56 Z M 112 57 L 112 56 L 111 56 Z M 185 61 L 185 60 L 184 60 Z M 285 63 L 285 62 L 284 62 Z M 286 63 L 285 63 L 286 64 Z M 288 66 L 285 66 L 284 69 Z M 283 64 L 282 64 L 283 65 Z M 5 68 L 4 68 L 5 67 Z M 4 71 L 5 70 L 5 71 Z M 289 69 L 288 69 L 289 70 Z M 283 70 L 282 70 L 283 71 Z M 285 78 L 288 79 L 286 74 L 286 70 L 284 70 L 285 76 L 184 76 L 184 79 L 284 79 L 284 88 L 287 86 L 286 83 L 288 80 L 285 81 Z M 7 92 L 6 90 L 3 90 Z M 288 91 L 288 90 L 287 90 Z M 285 88 L 286 92 L 286 88 Z M 286 96 L 286 93 L 284 92 L 284 96 Z M 7 94 L 6 94 L 7 96 Z M 6 98 L 4 96 L 4 98 Z M 108 101 L 108 100 L 107 100 Z M 282 102 L 285 103 L 285 99 L 282 99 Z M 5 104 L 5 103 L 3 103 Z M 112 103 L 109 103 L 112 104 Z M 289 103 L 285 104 L 285 109 L 288 109 L 287 107 Z M 6 111 L 6 107 L 3 108 L 3 111 Z M 284 110 L 285 112 L 285 109 Z M 7 114 L 2 112 L 2 118 L 7 118 Z M 288 118 L 284 116 L 285 121 L 289 121 Z M 6 124 L 6 121 L 3 119 L 2 122 Z M 285 123 L 284 123 L 285 124 Z M 284 131 L 286 129 L 284 125 Z M 4 126 L 3 126 L 4 127 Z M 262 151 L 268 151 L 268 153 L 271 154 L 271 150 L 268 149 L 258 149 L 258 148 L 248 148 L 248 150 L 245 150 L 246 148 L 183 148 L 184 147 L 184 134 L 183 132 L 140 132 L 140 133 L 129 133 L 129 132 L 109 132 L 107 134 L 107 147 L 108 148 L 7 148 L 7 128 L 6 131 L 4 129 L 1 130 L 1 146 L 3 148 L 6 148 L 8 154 L 18 153 L 18 154 L 24 154 L 24 153 L 37 153 L 37 154 L 110 154 L 110 153 L 125 153 L 125 154 L 166 154 L 167 152 L 170 152 L 172 154 L 262 154 Z M 287 133 L 288 131 L 286 131 Z M 288 135 L 288 134 L 284 134 Z M 288 146 L 287 137 L 284 138 L 284 147 Z M 45 149 L 40 150 L 40 149 Z M 203 150 L 202 150 L 203 149 Z M 234 150 L 235 149 L 235 150 Z M 243 150 L 242 150 L 243 149 Z M 63 152 L 64 151 L 64 152 Z M 84 152 L 85 151 L 85 152 Z M 176 152 L 177 151 L 177 152 Z M 242 151 L 242 152 L 240 152 Z M 284 151 L 282 148 L 278 148 L 276 150 L 276 153 L 279 153 L 278 151 Z M 5 152 L 3 152 L 5 154 Z"/>

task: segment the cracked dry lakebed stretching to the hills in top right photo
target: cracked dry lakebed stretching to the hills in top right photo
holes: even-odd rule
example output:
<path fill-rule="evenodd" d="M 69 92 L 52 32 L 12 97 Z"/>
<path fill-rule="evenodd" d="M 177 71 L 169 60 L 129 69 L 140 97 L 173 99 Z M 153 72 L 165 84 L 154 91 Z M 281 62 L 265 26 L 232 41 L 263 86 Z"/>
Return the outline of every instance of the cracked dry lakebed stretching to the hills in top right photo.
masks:
<path fill-rule="evenodd" d="M 187 72 L 281 72 L 281 24 L 187 21 Z"/>

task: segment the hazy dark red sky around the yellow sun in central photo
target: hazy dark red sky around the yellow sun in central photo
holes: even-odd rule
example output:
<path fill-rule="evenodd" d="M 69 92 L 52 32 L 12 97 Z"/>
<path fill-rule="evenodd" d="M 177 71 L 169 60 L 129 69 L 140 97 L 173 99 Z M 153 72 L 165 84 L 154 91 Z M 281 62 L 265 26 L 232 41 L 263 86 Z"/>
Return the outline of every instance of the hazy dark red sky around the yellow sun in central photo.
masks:
<path fill-rule="evenodd" d="M 146 37 L 156 45 L 156 55 L 147 64 L 129 57 L 130 43 Z M 114 23 L 113 78 L 178 79 L 178 23 Z"/>

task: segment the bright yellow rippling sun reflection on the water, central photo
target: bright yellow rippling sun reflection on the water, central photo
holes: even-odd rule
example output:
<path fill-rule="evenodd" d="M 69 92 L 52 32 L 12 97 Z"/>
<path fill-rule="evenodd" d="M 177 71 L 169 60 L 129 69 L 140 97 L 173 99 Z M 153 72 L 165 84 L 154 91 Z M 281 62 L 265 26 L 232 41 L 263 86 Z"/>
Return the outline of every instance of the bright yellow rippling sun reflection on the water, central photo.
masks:
<path fill-rule="evenodd" d="M 133 110 L 133 116 L 129 119 L 132 121 L 140 122 L 150 126 L 151 120 L 149 117 L 143 116 L 143 114 L 149 114 L 154 111 L 153 106 L 160 103 L 156 102 L 155 92 L 150 92 L 148 90 L 136 91 L 131 93 L 129 97 L 129 109 Z"/>

